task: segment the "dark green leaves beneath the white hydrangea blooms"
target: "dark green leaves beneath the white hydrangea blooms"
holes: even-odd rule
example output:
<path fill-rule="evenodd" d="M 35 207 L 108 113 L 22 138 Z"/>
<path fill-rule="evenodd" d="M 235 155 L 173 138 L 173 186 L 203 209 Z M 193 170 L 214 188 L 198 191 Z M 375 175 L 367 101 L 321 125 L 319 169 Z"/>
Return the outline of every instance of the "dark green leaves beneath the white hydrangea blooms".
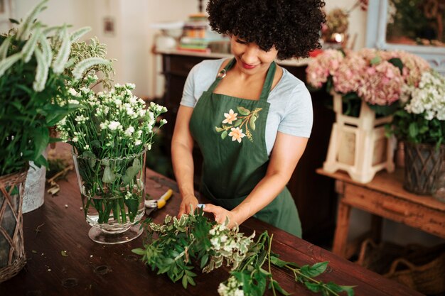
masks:
<path fill-rule="evenodd" d="M 385 126 L 386 135 L 410 143 L 429 143 L 439 147 L 445 143 L 445 121 L 437 118 L 428 120 L 424 114 L 412 114 L 401 109 Z"/>

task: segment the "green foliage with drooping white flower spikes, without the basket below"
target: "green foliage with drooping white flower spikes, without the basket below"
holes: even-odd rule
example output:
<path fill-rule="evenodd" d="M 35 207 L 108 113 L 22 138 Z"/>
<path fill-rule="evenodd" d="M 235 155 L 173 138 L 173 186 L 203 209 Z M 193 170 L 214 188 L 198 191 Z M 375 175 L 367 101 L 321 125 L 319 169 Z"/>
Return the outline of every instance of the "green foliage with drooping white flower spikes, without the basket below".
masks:
<path fill-rule="evenodd" d="M 63 72 L 70 44 L 83 31 L 69 34 L 67 26 L 48 27 L 36 20 L 47 1 L 24 21 L 11 20 L 18 28 L 0 37 L 0 175 L 23 170 L 29 161 L 47 165 L 42 153 L 53 141 L 48 127 L 77 107 L 68 104 L 70 77 Z M 58 48 L 50 44 L 55 36 L 61 40 Z M 84 72 L 85 66 L 77 64 L 74 70 Z"/>

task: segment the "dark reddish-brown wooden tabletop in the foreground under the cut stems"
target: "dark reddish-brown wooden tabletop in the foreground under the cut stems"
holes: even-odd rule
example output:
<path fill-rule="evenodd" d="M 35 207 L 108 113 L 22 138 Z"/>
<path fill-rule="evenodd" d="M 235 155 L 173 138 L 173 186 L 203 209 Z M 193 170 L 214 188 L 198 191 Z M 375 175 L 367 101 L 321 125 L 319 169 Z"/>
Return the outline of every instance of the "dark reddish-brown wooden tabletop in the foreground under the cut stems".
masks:
<path fill-rule="evenodd" d="M 70 172 L 68 180 L 59 184 L 57 196 L 46 195 L 41 208 L 23 215 L 28 263 L 18 275 L 0 284 L 0 295 L 218 295 L 219 283 L 228 278 L 226 269 L 220 268 L 210 274 L 197 271 L 197 285 L 184 290 L 181 283 L 172 283 L 165 275 L 156 275 L 146 268 L 139 256 L 132 253 L 133 248 L 141 247 L 141 237 L 119 245 L 91 241 L 87 236 L 90 226 L 80 209 L 75 173 Z M 180 196 L 175 182 L 148 171 L 146 190 L 149 194 L 159 197 L 168 187 L 175 193 L 166 207 L 154 212 L 154 221 L 162 221 L 166 214 L 176 214 Z M 285 261 L 301 265 L 330 261 L 328 271 L 319 277 L 320 280 L 357 285 L 356 295 L 420 295 L 257 219 L 249 219 L 241 229 L 245 234 L 253 230 L 257 234 L 265 230 L 273 233 L 272 249 Z M 62 251 L 68 256 L 63 256 Z M 286 290 L 295 292 L 294 295 L 314 295 L 282 271 L 274 269 L 274 278 Z M 267 291 L 266 295 L 272 292 Z"/>

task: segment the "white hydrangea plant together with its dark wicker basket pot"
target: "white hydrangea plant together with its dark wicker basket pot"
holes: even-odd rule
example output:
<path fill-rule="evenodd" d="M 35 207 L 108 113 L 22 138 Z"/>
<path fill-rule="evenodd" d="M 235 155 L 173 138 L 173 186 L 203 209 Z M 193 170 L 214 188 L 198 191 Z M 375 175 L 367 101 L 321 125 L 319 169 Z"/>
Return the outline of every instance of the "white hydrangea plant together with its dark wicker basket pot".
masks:
<path fill-rule="evenodd" d="M 431 194 L 445 160 L 445 78 L 424 72 L 405 94 L 388 132 L 404 142 L 404 188 Z"/>

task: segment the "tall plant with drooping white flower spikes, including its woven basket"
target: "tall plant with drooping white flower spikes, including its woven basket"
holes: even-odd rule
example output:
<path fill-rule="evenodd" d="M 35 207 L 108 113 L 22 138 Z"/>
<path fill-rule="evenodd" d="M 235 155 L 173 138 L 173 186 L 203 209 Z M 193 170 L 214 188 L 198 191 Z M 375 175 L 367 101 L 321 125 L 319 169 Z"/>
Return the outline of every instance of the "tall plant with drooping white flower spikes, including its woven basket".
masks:
<path fill-rule="evenodd" d="M 67 26 L 36 20 L 46 2 L 22 22 L 13 20 L 18 28 L 0 36 L 0 202 L 6 203 L 0 215 L 0 282 L 26 263 L 22 200 L 28 163 L 46 165 L 43 151 L 53 141 L 48 128 L 77 108 L 70 103 L 69 77 L 63 72 L 71 63 L 70 44 L 85 30 L 70 34 Z M 51 46 L 55 39 L 59 46 Z M 75 70 L 86 66 L 75 65 Z"/>

